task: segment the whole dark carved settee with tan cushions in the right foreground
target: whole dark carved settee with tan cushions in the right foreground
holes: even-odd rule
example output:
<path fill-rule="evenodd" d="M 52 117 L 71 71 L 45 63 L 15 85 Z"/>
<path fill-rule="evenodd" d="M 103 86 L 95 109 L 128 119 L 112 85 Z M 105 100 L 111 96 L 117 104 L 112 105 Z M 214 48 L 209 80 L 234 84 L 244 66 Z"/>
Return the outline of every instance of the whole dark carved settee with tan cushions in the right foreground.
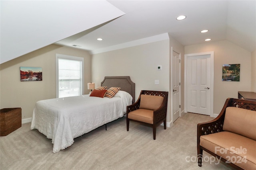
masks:
<path fill-rule="evenodd" d="M 256 170 L 256 101 L 228 98 L 218 117 L 198 123 L 198 166 L 203 150 L 236 169 Z"/>

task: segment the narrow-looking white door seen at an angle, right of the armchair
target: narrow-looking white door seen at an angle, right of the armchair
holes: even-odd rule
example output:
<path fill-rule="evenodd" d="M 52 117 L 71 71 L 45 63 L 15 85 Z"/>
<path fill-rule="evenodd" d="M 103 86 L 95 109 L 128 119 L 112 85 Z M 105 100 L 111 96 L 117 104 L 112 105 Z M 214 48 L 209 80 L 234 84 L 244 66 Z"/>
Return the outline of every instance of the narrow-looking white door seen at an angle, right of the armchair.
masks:
<path fill-rule="evenodd" d="M 180 54 L 172 50 L 172 119 L 180 117 Z"/>

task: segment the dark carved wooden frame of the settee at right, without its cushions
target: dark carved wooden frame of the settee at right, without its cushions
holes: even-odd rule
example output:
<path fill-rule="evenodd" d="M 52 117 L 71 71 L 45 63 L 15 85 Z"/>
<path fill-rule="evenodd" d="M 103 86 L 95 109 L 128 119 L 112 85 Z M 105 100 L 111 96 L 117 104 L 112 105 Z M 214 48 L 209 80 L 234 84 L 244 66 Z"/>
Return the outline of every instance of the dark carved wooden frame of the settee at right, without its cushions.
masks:
<path fill-rule="evenodd" d="M 217 158 L 221 159 L 222 161 L 226 162 L 227 160 L 218 156 L 214 152 L 211 152 L 210 150 L 200 146 L 200 136 L 202 135 L 208 135 L 212 133 L 218 133 L 223 131 L 223 124 L 224 124 L 224 118 L 226 113 L 227 107 L 240 107 L 243 109 L 248 110 L 254 110 L 256 111 L 256 102 L 251 100 L 242 100 L 242 99 L 234 99 L 234 98 L 228 98 L 218 115 L 215 119 L 212 121 L 204 122 L 204 123 L 198 123 L 197 125 L 197 156 L 198 156 L 198 166 L 202 166 L 202 156 L 203 156 L 203 150 L 206 152 L 212 154 L 213 156 L 216 156 Z M 230 166 L 236 168 L 236 169 L 242 169 L 239 166 L 236 166 L 235 164 L 230 163 Z"/>

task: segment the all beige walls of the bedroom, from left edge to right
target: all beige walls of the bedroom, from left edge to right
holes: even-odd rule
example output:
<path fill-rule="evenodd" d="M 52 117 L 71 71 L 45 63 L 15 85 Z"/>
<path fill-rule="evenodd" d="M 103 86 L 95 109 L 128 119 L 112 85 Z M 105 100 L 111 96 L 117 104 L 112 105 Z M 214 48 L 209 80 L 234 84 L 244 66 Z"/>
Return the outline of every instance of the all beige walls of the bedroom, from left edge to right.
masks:
<path fill-rule="evenodd" d="M 181 111 L 184 110 L 184 54 L 214 51 L 215 114 L 220 112 L 226 98 L 237 98 L 237 91 L 256 91 L 256 51 L 250 53 L 229 41 L 186 46 L 184 51 L 178 41 L 169 37 L 170 40 L 95 54 L 92 58 L 87 51 L 49 45 L 3 63 L 0 65 L 0 107 L 22 107 L 22 119 L 26 119 L 32 117 L 36 101 L 55 98 L 56 53 L 84 57 L 85 94 L 89 92 L 86 83 L 91 81 L 91 76 L 96 86 L 100 86 L 104 76 L 130 76 L 136 83 L 136 99 L 140 90 L 170 91 L 171 47 L 182 54 Z M 240 82 L 222 82 L 222 64 L 236 63 L 241 64 Z M 157 70 L 158 65 L 162 65 L 162 70 Z M 20 66 L 42 67 L 43 81 L 20 82 Z M 155 85 L 154 80 L 159 80 L 160 84 Z M 170 97 L 169 92 L 169 106 Z M 167 121 L 172 122 L 169 106 Z"/>

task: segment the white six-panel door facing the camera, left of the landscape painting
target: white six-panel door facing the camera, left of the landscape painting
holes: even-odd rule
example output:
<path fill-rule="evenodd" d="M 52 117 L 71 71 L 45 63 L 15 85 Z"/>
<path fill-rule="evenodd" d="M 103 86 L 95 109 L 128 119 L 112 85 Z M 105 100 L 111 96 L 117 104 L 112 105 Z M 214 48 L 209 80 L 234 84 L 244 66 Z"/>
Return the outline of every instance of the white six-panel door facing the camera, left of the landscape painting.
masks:
<path fill-rule="evenodd" d="M 186 65 L 187 111 L 210 115 L 211 56 L 197 55 L 187 58 Z"/>

